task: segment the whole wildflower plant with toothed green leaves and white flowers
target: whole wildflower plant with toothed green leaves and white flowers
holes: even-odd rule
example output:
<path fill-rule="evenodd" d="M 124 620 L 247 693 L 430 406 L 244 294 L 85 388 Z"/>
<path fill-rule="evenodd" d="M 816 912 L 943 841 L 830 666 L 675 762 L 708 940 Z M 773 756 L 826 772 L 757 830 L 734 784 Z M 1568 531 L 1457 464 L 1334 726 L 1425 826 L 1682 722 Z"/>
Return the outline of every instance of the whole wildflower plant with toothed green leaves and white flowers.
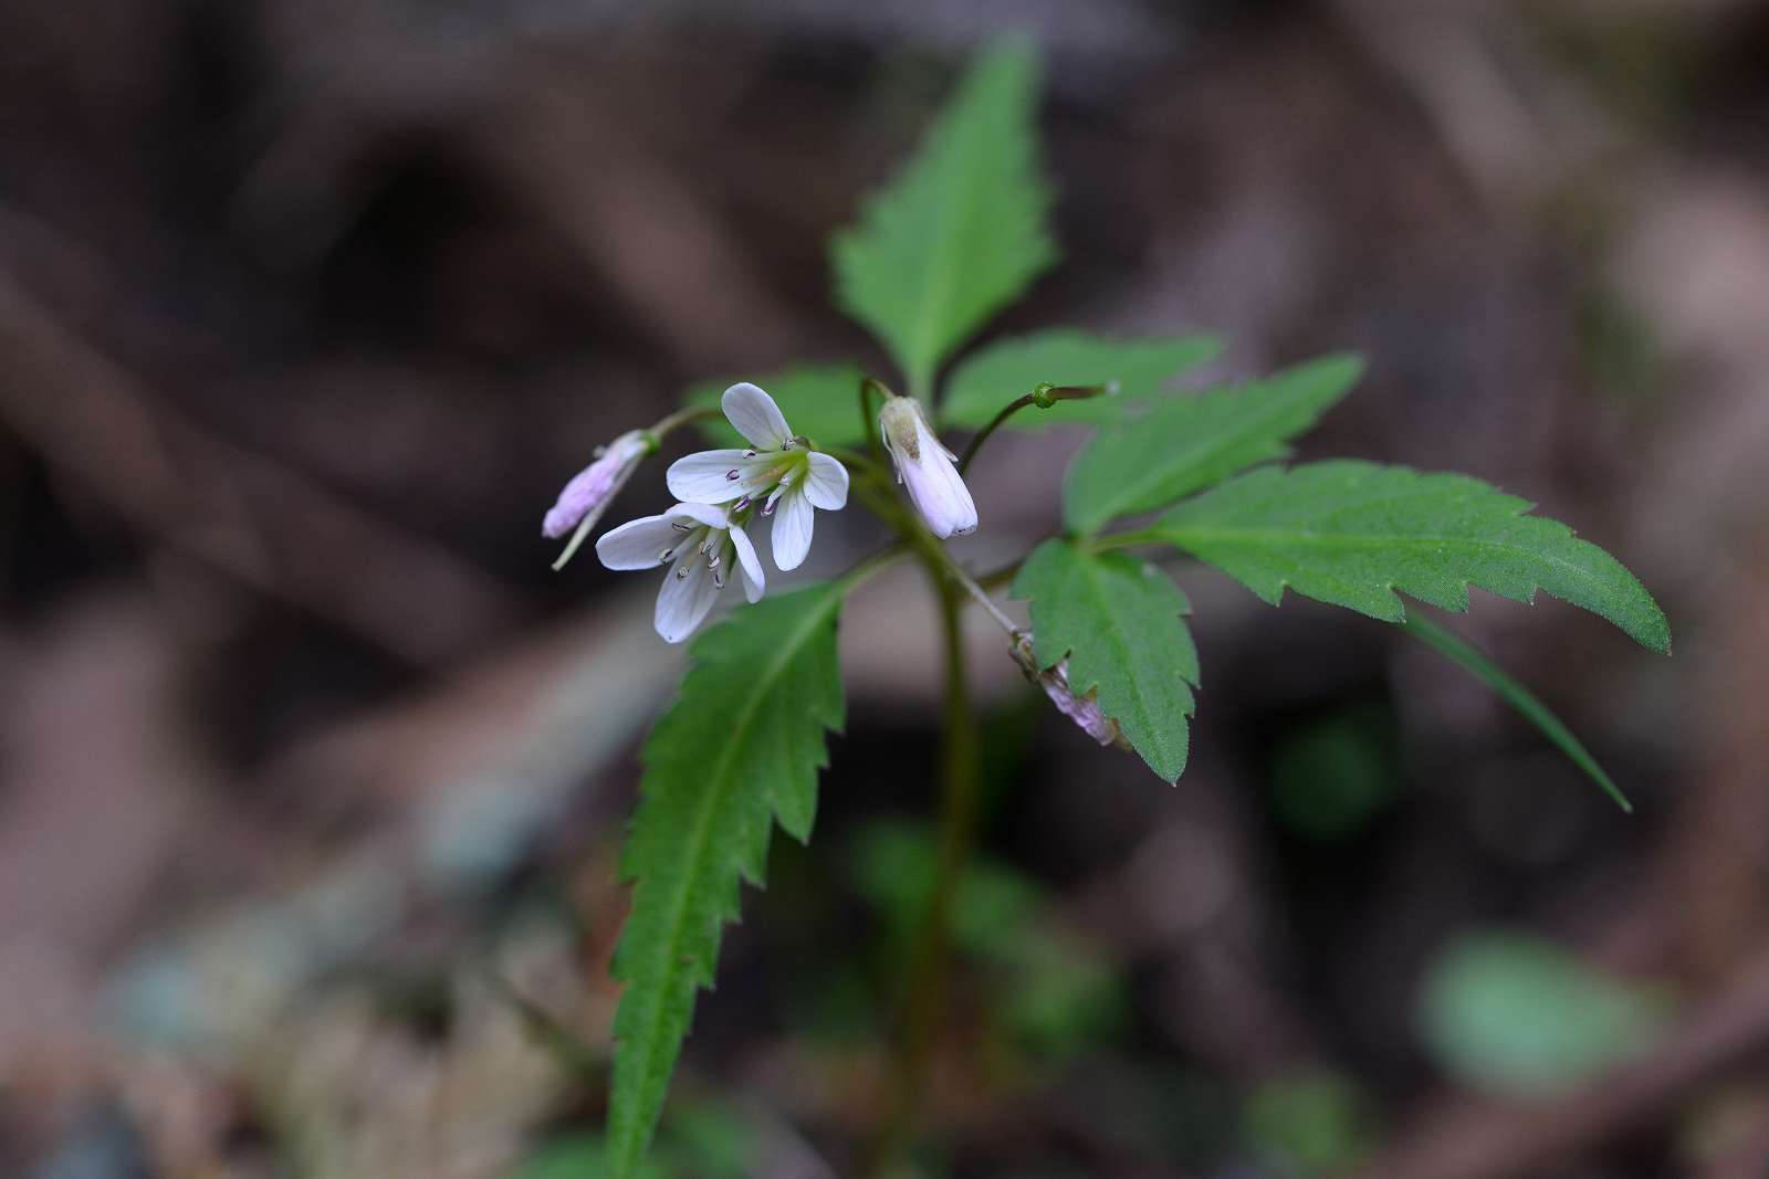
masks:
<path fill-rule="evenodd" d="M 1286 467 L 1291 440 L 1357 384 L 1355 357 L 1183 394 L 1169 384 L 1210 361 L 1215 339 L 1051 329 L 982 346 L 941 385 L 953 352 L 1056 260 L 1035 99 L 1028 48 L 985 53 L 902 173 L 833 242 L 837 300 L 884 345 L 895 387 L 826 364 L 693 391 L 686 408 L 610 444 L 547 516 L 547 536 L 573 534 L 563 562 L 663 435 L 701 422 L 731 444 L 676 461 L 667 484 L 679 502 L 596 543 L 605 566 L 662 576 L 656 629 L 669 642 L 702 626 L 732 576 L 750 601 L 693 642 L 681 691 L 640 755 L 621 859 L 632 914 L 614 956 L 626 985 L 607 1138 L 616 1175 L 644 1161 L 695 993 L 713 985 L 741 886 L 762 884 L 773 827 L 810 838 L 828 734 L 844 721 L 837 622 L 893 560 L 918 562 L 936 590 L 946 730 L 939 877 L 906 965 L 879 1158 L 907 1137 L 925 1080 L 975 817 L 964 608 L 999 622 L 1003 658 L 1049 696 L 1053 718 L 1134 751 L 1171 783 L 1185 769 L 1199 668 L 1191 606 L 1162 562 L 1191 557 L 1274 606 L 1288 587 L 1403 626 L 1488 682 L 1626 806 L 1539 700 L 1399 594 L 1465 612 L 1470 585 L 1523 603 L 1546 590 L 1658 652 L 1670 649 L 1665 615 L 1613 557 L 1477 479 L 1357 460 Z M 1063 532 L 1005 569 L 966 569 L 943 541 L 989 527 L 989 504 L 964 483 L 969 460 L 998 430 L 1053 424 L 1091 430 L 1063 477 Z M 941 440 L 959 435 L 962 451 Z M 849 490 L 895 541 L 842 576 L 764 596 L 755 539 L 766 532 L 777 569 L 798 567 L 816 513 L 842 511 Z M 1030 628 L 996 601 L 1003 590 L 1026 603 Z"/>

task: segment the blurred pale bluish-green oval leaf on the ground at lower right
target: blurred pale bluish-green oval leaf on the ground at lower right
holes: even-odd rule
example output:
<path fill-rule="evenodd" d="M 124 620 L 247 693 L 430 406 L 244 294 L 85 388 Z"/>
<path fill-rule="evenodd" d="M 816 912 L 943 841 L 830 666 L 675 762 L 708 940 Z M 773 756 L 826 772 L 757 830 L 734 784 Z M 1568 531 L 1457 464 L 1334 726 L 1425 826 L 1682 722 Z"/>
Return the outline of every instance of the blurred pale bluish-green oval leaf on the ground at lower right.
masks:
<path fill-rule="evenodd" d="M 1553 942 L 1482 930 L 1431 963 L 1419 1027 L 1438 1068 L 1459 1084 L 1539 1096 L 1650 1046 L 1670 1006 L 1663 988 L 1592 970 Z"/>

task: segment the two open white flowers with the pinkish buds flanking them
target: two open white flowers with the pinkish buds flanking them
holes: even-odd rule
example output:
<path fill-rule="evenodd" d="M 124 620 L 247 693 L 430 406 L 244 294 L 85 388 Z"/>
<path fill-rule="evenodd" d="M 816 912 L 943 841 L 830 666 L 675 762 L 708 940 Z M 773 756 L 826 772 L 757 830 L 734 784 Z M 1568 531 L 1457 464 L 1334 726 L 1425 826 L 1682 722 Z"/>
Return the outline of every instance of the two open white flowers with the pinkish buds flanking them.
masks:
<path fill-rule="evenodd" d="M 656 631 L 679 643 L 711 613 L 718 592 L 736 569 L 743 594 L 757 601 L 766 589 L 761 557 L 750 541 L 755 518 L 773 521 L 770 536 L 775 567 L 796 569 L 810 553 L 817 511 L 847 506 L 847 468 L 807 438 L 793 433 L 775 399 L 748 382 L 725 389 L 720 399 L 725 419 L 748 440 L 745 449 L 701 451 L 670 465 L 667 483 L 676 506 L 658 516 L 632 520 L 596 541 L 596 555 L 609 569 L 663 567 L 658 590 Z M 674 419 L 670 419 L 674 421 Z M 541 532 L 571 534 L 571 543 L 554 567 L 561 567 L 596 527 L 639 463 L 656 451 L 656 430 L 633 430 L 596 453 L 559 493 Z M 952 465 L 952 453 L 939 444 L 920 407 L 909 398 L 890 398 L 879 414 L 884 447 L 897 467 L 897 481 L 927 521 L 945 539 L 976 529 L 976 504 Z"/>

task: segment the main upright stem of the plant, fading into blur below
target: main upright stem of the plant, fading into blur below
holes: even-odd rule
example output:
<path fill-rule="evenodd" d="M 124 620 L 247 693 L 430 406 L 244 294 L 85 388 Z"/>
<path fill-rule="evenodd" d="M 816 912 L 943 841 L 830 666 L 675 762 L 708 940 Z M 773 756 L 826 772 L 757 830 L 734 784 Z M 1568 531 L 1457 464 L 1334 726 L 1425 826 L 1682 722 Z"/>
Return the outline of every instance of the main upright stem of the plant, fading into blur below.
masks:
<path fill-rule="evenodd" d="M 930 537 L 929 537 L 930 539 Z M 899 1015 L 892 1043 L 890 1114 L 874 1142 L 867 1174 L 886 1175 L 907 1147 L 927 1089 L 939 1022 L 946 1008 L 946 976 L 952 958 L 952 910 L 964 879 L 976 831 L 980 741 L 964 675 L 961 629 L 964 589 L 945 562 L 916 546 L 939 601 L 941 636 L 946 647 L 945 732 L 939 751 L 939 859 L 927 909 L 916 926 L 904 970 Z"/>

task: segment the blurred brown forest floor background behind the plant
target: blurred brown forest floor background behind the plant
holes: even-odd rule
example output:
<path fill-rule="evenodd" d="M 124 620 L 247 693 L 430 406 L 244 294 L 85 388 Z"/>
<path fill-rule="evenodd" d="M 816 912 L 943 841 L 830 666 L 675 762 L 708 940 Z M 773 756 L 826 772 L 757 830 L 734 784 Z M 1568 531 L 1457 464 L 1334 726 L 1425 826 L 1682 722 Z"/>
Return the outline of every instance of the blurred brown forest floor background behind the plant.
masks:
<path fill-rule="evenodd" d="M 824 239 L 1045 51 L 992 331 L 1355 348 L 1304 445 L 1619 555 L 1454 626 L 1205 571 L 1176 788 L 975 635 L 989 810 L 907 1174 L 1769 1174 L 1769 11 L 1750 0 L 0 4 L 0 1174 L 594 1175 L 614 857 L 681 650 L 540 520 L 697 380 L 858 359 Z M 975 468 L 978 567 L 1074 437 Z M 686 437 L 670 451 L 690 449 Z M 656 511 L 662 465 L 616 504 Z M 808 574 L 876 544 L 819 521 Z M 930 873 L 925 589 L 701 1000 L 658 1174 L 853 1174 Z"/>

